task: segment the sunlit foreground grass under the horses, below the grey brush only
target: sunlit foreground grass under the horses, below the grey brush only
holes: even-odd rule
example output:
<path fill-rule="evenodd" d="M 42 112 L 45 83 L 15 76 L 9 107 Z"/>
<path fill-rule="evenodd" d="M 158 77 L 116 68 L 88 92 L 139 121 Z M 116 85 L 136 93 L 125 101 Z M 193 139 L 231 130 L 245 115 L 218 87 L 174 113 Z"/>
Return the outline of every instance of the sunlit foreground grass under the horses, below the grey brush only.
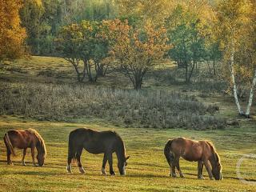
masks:
<path fill-rule="evenodd" d="M 74 174 L 66 174 L 67 139 L 70 130 L 78 127 L 96 130 L 116 130 L 126 143 L 126 152 L 130 160 L 126 177 L 102 176 L 102 154 L 94 155 L 86 151 L 82 154 L 82 164 L 86 174 L 78 173 L 74 165 Z M 34 128 L 45 138 L 47 147 L 46 165 L 34 167 L 30 152 L 26 156 L 27 166 L 21 166 L 21 150 L 14 157 L 14 166 L 6 165 L 5 148 L 0 140 L 0 191 L 254 191 L 255 186 L 240 182 L 235 173 L 235 166 L 242 154 L 256 153 L 256 132 L 254 123 L 244 123 L 241 127 L 229 130 L 154 130 L 99 126 L 97 124 L 78 124 L 67 122 L 37 122 L 23 118 L 0 116 L 0 135 L 10 129 Z M 250 134 L 250 138 L 247 135 Z M 168 138 L 184 136 L 194 139 L 209 139 L 214 142 L 222 158 L 222 182 L 210 181 L 204 170 L 205 181 L 198 181 L 197 163 L 181 161 L 186 179 L 170 178 L 169 167 L 163 155 L 163 147 Z M 244 142 L 243 138 L 247 138 Z M 242 173 L 255 179 L 253 161 L 242 164 Z M 118 172 L 117 159 L 114 155 L 114 170 Z"/>

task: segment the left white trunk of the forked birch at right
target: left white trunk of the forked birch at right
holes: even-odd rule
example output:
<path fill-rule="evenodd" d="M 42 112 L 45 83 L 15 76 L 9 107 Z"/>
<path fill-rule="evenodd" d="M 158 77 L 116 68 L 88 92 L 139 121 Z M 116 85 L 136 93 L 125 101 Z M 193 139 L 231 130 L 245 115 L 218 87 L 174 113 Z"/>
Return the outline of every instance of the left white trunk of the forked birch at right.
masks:
<path fill-rule="evenodd" d="M 234 38 L 232 39 L 232 42 L 231 42 L 230 73 L 231 73 L 231 81 L 232 81 L 232 84 L 233 84 L 234 101 L 235 101 L 235 104 L 238 107 L 239 114 L 243 114 L 240 103 L 238 101 L 238 90 L 237 90 L 237 85 L 235 83 L 235 78 L 234 78 Z"/>

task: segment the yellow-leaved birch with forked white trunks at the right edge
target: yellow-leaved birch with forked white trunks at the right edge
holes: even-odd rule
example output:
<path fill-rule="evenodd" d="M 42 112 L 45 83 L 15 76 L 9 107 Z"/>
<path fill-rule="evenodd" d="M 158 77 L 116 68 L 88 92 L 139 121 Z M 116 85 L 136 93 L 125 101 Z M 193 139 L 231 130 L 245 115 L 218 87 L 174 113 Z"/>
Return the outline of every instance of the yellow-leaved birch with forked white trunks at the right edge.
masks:
<path fill-rule="evenodd" d="M 252 1 L 253 2 L 253 1 Z M 221 39 L 224 58 L 230 69 L 230 81 L 238 113 L 250 116 L 250 106 L 254 94 L 256 74 L 251 83 L 250 99 L 246 113 L 238 101 L 238 86 L 236 76 L 239 71 L 246 74 L 256 73 L 254 62 L 255 55 L 255 17 L 253 3 L 247 0 L 228 0 L 218 4 L 218 38 Z M 248 58 L 248 59 L 247 59 Z M 248 73 L 249 72 L 249 73 Z"/>

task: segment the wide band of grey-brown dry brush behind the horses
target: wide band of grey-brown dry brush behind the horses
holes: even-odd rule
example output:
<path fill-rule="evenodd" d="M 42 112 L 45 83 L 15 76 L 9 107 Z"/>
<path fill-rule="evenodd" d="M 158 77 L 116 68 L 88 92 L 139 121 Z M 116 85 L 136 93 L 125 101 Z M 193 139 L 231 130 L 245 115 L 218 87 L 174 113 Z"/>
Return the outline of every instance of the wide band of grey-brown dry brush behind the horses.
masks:
<path fill-rule="evenodd" d="M 53 121 L 102 118 L 114 124 L 152 128 L 216 129 L 216 106 L 166 90 L 112 90 L 84 85 L 14 86 L 0 88 L 0 114 L 17 114 Z"/>

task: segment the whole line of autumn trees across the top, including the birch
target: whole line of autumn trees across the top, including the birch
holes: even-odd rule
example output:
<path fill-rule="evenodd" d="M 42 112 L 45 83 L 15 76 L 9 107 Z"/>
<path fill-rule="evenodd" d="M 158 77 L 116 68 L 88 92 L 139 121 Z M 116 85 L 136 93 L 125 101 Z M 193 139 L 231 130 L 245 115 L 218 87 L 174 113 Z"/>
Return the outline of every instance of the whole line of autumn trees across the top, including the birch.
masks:
<path fill-rule="evenodd" d="M 250 115 L 256 84 L 253 0 L 0 0 L 0 60 L 57 55 L 78 82 L 104 76 L 109 66 L 142 88 L 145 74 L 172 59 L 190 83 L 200 63 L 233 90 L 238 113 Z M 26 30 L 26 32 L 25 32 Z M 17 35 L 19 34 L 19 35 Z M 246 110 L 239 91 L 250 90 Z M 241 92 L 241 91 L 240 91 Z"/>

